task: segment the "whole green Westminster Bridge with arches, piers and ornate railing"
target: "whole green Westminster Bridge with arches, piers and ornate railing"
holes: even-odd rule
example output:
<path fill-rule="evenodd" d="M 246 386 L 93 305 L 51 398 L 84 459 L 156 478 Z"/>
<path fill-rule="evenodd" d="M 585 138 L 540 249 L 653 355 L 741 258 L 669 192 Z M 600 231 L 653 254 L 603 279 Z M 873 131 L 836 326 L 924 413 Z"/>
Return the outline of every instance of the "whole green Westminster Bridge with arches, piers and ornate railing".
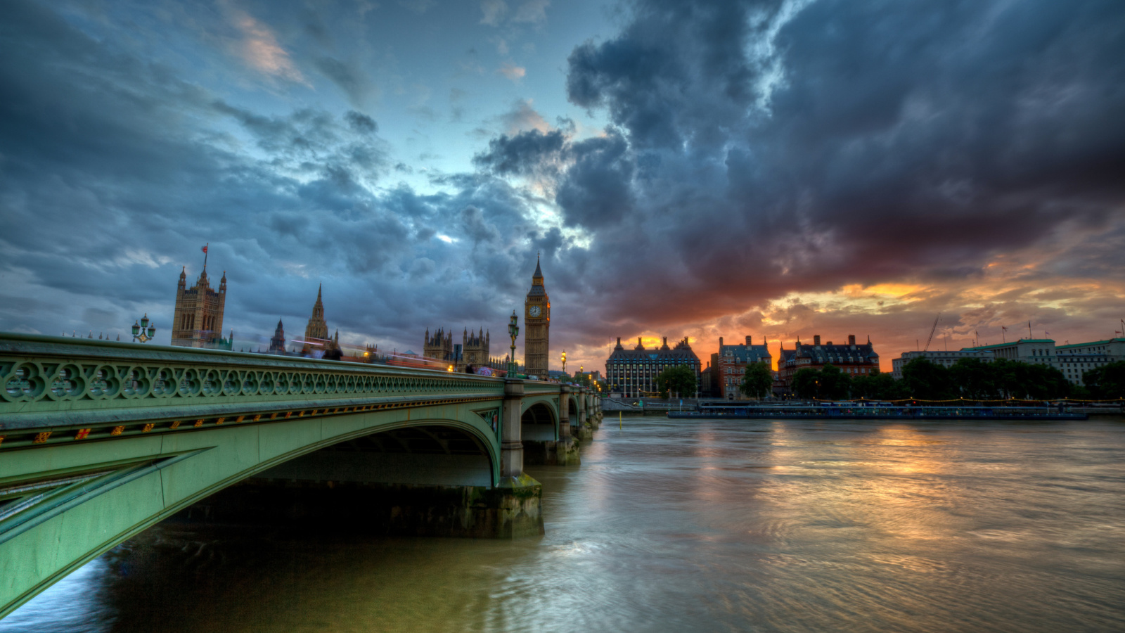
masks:
<path fill-rule="evenodd" d="M 542 534 L 525 458 L 576 464 L 601 419 L 600 398 L 557 383 L 14 333 L 0 377 L 0 617 L 215 499 L 335 503 L 398 533 Z"/>

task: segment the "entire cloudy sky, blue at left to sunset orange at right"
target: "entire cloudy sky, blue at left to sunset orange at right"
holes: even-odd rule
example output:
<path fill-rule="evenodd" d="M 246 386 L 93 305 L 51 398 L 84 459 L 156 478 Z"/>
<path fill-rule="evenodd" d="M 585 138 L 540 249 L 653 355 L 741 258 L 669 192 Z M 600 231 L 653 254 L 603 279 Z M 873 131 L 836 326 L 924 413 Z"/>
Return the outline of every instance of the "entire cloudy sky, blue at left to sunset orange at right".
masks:
<path fill-rule="evenodd" d="M 205 243 L 236 347 L 323 283 L 500 355 L 537 252 L 552 368 L 1125 318 L 1119 0 L 8 0 L 0 51 L 0 330 L 166 342 Z"/>

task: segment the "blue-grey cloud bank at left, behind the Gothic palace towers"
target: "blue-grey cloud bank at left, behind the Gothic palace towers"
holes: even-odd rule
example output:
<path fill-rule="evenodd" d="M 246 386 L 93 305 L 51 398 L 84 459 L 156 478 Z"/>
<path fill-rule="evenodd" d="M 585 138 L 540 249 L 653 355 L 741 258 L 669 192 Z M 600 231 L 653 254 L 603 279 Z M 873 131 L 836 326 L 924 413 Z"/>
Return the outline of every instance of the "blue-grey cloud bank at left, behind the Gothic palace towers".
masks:
<path fill-rule="evenodd" d="M 0 310 L 2 329 L 127 329 L 148 312 L 160 340 L 208 242 L 240 340 L 278 315 L 299 332 L 321 282 L 333 328 L 399 349 L 422 323 L 506 321 L 541 233 L 522 191 L 486 175 L 431 195 L 377 186 L 392 163 L 369 115 L 263 114 L 128 38 L 0 10 L 0 294 L 38 297 Z"/>

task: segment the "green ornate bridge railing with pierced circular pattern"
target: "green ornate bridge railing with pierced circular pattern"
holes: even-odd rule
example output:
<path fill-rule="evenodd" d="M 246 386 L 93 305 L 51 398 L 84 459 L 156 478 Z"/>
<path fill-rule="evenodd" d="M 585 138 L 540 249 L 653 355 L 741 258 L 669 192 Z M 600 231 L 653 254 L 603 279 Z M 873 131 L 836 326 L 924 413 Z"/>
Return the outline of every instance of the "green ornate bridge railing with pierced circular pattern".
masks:
<path fill-rule="evenodd" d="M 503 378 L 210 349 L 0 333 L 0 435 L 83 412 L 502 398 Z M 216 407 L 218 409 L 216 409 Z M 170 417 L 180 414 L 169 412 Z"/>

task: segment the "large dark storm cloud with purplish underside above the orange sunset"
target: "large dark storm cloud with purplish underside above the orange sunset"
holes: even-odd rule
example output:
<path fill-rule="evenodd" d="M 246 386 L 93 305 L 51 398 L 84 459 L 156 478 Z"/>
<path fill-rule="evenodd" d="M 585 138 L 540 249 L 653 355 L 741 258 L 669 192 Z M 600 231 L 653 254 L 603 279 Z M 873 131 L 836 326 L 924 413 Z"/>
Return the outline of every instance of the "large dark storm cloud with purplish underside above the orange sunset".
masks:
<path fill-rule="evenodd" d="M 966 276 L 1074 223 L 1122 224 L 1119 2 L 631 7 L 569 57 L 570 100 L 620 135 L 568 145 L 556 198 L 613 271 L 610 321 Z M 647 277 L 660 293 L 620 283 Z"/>

